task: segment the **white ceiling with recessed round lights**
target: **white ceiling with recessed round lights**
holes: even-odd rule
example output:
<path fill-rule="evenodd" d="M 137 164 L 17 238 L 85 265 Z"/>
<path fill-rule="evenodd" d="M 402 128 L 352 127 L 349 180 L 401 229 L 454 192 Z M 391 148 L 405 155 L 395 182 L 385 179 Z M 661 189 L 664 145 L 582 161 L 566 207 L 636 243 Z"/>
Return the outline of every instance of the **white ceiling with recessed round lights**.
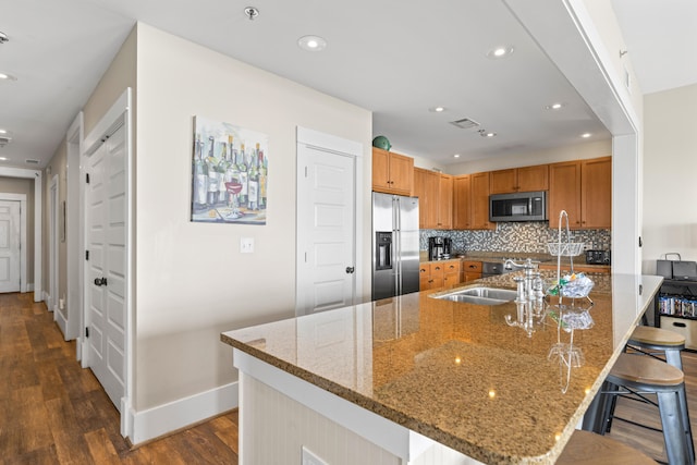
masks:
<path fill-rule="evenodd" d="M 448 164 L 610 134 L 503 2 L 0 0 L 0 167 L 44 168 L 136 21 L 374 112 L 393 149 Z M 250 21 L 245 7 L 259 15 Z M 697 2 L 612 0 L 645 93 L 697 83 Z M 670 27 L 665 25 L 670 24 Z M 321 52 L 297 46 L 327 39 Z M 491 59 L 497 46 L 513 53 Z M 561 110 L 546 106 L 563 102 Z M 429 111 L 437 106 L 442 112 Z M 479 123 L 460 129 L 452 121 Z M 479 130 L 496 133 L 482 137 Z M 582 133 L 590 133 L 582 139 Z M 0 134 L 0 136 L 2 136 Z M 460 158 L 454 159 L 453 155 Z M 34 160 L 34 162 L 27 162 Z"/>

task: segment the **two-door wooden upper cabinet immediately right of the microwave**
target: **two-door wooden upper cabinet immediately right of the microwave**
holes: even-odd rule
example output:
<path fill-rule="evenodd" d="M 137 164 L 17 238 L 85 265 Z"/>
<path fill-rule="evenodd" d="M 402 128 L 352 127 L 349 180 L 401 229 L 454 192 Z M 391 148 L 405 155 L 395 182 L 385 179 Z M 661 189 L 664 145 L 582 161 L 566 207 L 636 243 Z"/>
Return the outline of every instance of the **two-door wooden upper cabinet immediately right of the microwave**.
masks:
<path fill-rule="evenodd" d="M 612 158 L 550 164 L 548 208 L 550 228 L 559 225 L 561 210 L 572 229 L 611 228 Z"/>

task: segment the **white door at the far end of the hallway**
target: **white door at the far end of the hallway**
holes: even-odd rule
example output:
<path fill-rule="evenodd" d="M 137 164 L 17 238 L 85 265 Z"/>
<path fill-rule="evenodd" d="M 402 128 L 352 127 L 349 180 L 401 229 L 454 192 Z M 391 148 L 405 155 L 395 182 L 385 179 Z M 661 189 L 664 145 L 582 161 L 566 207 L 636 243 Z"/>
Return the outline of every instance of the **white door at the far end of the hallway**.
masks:
<path fill-rule="evenodd" d="M 20 292 L 20 205 L 0 200 L 0 292 Z"/>

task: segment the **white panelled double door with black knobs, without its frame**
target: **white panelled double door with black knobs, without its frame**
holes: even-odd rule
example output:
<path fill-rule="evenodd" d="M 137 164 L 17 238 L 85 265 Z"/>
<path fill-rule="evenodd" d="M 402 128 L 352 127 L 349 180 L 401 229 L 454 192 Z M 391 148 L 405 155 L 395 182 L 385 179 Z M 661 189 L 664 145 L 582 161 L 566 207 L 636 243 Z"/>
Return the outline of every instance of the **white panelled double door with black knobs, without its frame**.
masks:
<path fill-rule="evenodd" d="M 125 394 L 125 127 L 88 159 L 87 365 L 121 409 Z"/>

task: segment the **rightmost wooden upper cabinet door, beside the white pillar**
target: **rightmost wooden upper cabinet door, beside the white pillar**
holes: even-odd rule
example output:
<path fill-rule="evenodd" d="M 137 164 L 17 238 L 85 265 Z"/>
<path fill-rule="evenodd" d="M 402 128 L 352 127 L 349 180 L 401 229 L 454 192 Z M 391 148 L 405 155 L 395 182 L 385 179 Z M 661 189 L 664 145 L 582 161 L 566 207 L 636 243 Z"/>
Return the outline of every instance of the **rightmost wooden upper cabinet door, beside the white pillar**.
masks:
<path fill-rule="evenodd" d="M 612 224 L 612 158 L 584 160 L 580 166 L 580 225 L 610 229 Z"/>

